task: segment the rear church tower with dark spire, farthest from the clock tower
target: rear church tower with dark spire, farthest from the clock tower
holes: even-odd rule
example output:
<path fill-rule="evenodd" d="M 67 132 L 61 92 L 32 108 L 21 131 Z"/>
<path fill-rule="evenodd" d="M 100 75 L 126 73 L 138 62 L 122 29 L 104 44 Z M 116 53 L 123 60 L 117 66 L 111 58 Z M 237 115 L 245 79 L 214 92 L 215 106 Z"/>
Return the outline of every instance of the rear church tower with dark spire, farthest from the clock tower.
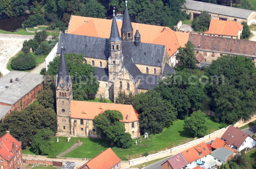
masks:
<path fill-rule="evenodd" d="M 125 41 L 133 41 L 133 28 L 127 9 L 127 1 L 125 1 L 125 10 L 123 16 L 123 23 L 121 28 L 121 38 Z"/>

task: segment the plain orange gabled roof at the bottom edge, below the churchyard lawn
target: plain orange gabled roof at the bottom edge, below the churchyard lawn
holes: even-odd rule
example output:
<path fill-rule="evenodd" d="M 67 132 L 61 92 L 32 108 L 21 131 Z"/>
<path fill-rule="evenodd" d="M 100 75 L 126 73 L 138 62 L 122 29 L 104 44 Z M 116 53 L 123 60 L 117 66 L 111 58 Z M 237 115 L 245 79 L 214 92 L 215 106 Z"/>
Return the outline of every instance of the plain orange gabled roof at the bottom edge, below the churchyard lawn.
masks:
<path fill-rule="evenodd" d="M 116 156 L 114 151 L 111 148 L 108 148 L 78 169 L 81 169 L 84 166 L 88 166 L 89 169 L 111 169 L 120 161 L 121 159 Z"/>

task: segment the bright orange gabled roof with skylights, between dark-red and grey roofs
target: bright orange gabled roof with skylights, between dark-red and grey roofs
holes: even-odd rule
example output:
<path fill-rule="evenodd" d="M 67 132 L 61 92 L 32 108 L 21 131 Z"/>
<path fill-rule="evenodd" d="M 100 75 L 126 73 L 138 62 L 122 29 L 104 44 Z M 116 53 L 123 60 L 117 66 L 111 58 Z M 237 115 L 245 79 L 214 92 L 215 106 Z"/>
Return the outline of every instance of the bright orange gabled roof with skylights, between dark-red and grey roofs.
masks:
<path fill-rule="evenodd" d="M 202 153 L 199 156 L 199 153 Z M 191 163 L 193 161 L 196 161 L 204 156 L 207 156 L 208 154 L 211 153 L 211 151 L 208 149 L 207 145 L 205 142 L 202 142 L 194 147 L 191 147 L 183 152 L 181 152 L 182 155 L 185 157 L 188 163 Z"/>

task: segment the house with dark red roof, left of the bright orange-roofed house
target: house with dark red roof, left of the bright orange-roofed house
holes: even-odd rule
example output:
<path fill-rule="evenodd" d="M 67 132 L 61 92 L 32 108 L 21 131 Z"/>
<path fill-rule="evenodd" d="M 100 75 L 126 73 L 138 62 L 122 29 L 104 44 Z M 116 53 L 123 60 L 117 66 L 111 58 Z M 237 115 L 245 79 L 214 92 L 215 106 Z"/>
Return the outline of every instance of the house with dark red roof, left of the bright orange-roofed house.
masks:
<path fill-rule="evenodd" d="M 185 160 L 181 153 L 178 153 L 163 164 L 161 164 L 161 167 L 162 169 L 181 169 L 183 167 L 186 167 L 187 165 L 188 162 Z"/>

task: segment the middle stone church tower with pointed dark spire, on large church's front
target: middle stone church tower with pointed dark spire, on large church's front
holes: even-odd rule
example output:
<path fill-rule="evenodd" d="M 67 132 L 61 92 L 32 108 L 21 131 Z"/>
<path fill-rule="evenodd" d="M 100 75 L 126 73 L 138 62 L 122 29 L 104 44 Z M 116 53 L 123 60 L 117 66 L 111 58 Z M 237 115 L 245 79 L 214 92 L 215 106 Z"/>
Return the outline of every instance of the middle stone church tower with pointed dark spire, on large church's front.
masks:
<path fill-rule="evenodd" d="M 111 33 L 109 37 L 109 81 L 113 82 L 115 75 L 121 69 L 122 61 L 122 41 L 115 20 L 115 10 L 113 10 Z"/>

